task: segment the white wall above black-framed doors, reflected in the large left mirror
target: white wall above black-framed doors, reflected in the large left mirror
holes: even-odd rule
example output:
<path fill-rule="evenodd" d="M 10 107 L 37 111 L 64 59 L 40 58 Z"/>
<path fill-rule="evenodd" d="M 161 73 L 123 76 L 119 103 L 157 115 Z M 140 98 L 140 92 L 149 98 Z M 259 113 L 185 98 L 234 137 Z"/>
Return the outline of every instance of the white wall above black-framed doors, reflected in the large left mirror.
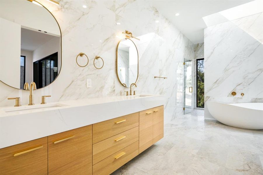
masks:
<path fill-rule="evenodd" d="M 54 37 L 33 51 L 33 62 L 58 52 L 58 71 L 61 67 L 60 37 Z"/>

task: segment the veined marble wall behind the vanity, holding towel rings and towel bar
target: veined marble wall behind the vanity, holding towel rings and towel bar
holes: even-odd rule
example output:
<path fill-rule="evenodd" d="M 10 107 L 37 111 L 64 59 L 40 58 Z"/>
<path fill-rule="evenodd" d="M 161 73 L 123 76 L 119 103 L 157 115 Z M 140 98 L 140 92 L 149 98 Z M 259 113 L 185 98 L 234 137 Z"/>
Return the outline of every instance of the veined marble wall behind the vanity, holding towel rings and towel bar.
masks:
<path fill-rule="evenodd" d="M 56 81 L 34 90 L 34 102 L 42 95 L 51 95 L 47 102 L 124 95 L 116 76 L 116 46 L 125 30 L 132 31 L 140 41 L 137 94 L 164 94 L 165 122 L 182 114 L 183 60 L 194 57 L 194 46 L 178 29 L 151 5 L 151 1 L 67 1 L 60 6 L 40 0 L 52 12 L 62 32 L 62 69 Z M 87 8 L 83 8 L 83 5 Z M 159 23 L 155 21 L 159 20 Z M 117 25 L 119 22 L 121 25 Z M 76 55 L 84 52 L 88 66 L 78 67 Z M 95 69 L 96 55 L 104 59 L 104 67 Z M 167 76 L 167 79 L 154 78 Z M 86 88 L 86 78 L 92 88 Z M 12 106 L 7 97 L 21 97 L 28 103 L 29 92 L 11 88 L 0 82 L 1 106 Z"/>

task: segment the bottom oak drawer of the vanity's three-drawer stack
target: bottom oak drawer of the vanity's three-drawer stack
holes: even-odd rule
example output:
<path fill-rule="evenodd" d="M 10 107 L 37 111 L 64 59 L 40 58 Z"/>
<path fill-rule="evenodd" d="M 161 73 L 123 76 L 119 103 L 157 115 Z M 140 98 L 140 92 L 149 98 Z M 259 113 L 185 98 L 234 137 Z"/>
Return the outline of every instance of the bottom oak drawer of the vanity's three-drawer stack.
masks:
<path fill-rule="evenodd" d="M 111 174 L 139 154 L 139 141 L 93 165 L 94 174 Z"/>

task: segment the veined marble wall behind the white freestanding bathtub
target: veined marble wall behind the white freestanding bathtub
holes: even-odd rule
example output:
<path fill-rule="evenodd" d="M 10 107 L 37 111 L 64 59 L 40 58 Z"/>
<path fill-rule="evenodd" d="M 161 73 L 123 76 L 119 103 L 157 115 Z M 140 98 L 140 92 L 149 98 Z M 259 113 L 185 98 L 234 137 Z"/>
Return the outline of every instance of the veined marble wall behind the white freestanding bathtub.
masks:
<path fill-rule="evenodd" d="M 205 101 L 263 102 L 263 13 L 217 24 L 204 32 Z M 237 93 L 234 97 L 233 91 Z M 213 118 L 206 105 L 205 117 Z"/>

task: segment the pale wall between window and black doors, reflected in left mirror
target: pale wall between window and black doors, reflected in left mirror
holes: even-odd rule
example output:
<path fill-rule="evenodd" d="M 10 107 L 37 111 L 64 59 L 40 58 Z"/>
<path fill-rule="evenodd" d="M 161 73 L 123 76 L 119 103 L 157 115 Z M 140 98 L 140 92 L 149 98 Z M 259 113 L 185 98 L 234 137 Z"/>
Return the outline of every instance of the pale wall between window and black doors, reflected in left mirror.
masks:
<path fill-rule="evenodd" d="M 26 56 L 25 82 L 30 84 L 33 81 L 33 52 L 21 50 L 21 55 Z"/>

